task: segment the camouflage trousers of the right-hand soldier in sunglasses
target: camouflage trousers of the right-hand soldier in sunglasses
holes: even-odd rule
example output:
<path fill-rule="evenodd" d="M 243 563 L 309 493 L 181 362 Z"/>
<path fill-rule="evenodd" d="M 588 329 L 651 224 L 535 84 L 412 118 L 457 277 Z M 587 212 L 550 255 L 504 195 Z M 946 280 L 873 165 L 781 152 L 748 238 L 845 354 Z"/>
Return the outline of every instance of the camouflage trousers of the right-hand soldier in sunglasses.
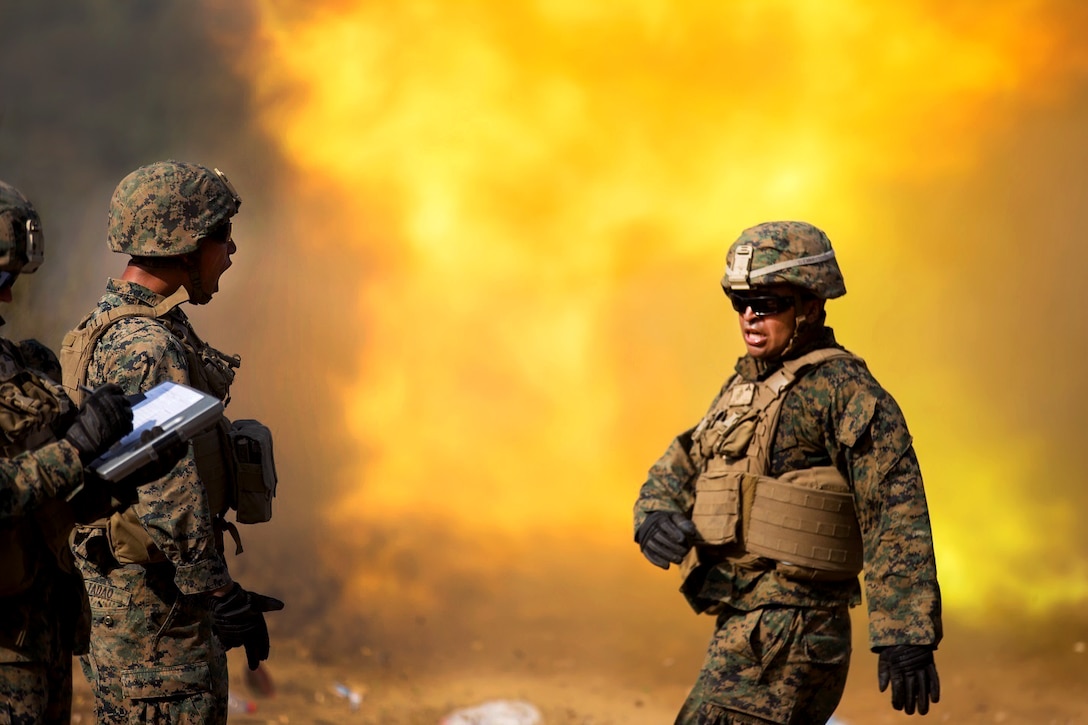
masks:
<path fill-rule="evenodd" d="M 823 725 L 850 667 L 850 612 L 768 607 L 718 617 L 677 725 Z"/>

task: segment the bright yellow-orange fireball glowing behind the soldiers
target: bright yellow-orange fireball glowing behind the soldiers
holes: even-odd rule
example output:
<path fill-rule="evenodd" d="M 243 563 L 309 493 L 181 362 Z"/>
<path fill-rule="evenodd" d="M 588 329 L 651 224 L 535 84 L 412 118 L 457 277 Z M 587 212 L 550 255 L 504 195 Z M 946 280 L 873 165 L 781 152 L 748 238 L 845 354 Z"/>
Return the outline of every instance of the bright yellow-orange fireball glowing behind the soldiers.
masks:
<path fill-rule="evenodd" d="M 863 300 L 910 284 L 936 306 L 948 272 L 897 275 L 911 242 L 866 233 L 866 189 L 968 174 L 1017 109 L 1088 67 L 1070 42 L 1085 11 L 1044 2 L 292 4 L 258 3 L 245 64 L 298 191 L 337 210 L 312 243 L 360 271 L 341 308 L 361 340 L 342 351 L 358 361 L 343 416 L 366 455 L 341 521 L 629 537 L 645 468 L 739 353 L 714 286 L 741 229 L 807 219 Z M 868 319 L 850 299 L 831 307 L 844 329 Z M 855 344 L 873 361 L 908 353 L 895 342 Z M 994 404 L 964 397 L 965 370 L 919 372 L 892 392 L 949 609 L 1084 599 L 1083 572 L 1043 572 L 1030 597 L 1003 583 L 1049 545 L 1015 507 L 1058 536 L 1074 523 L 1021 492 L 1039 446 L 972 425 Z M 935 391 L 969 419 L 912 415 Z M 992 546 L 961 516 L 979 507 Z"/>

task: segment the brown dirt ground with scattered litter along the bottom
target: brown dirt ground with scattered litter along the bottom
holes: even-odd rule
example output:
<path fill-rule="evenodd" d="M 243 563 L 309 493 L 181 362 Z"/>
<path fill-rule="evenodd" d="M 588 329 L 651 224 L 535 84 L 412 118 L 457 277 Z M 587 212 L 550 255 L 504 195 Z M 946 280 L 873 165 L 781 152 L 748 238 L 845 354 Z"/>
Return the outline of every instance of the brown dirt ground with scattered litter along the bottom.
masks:
<path fill-rule="evenodd" d="M 942 648 L 938 665 L 943 697 L 922 722 L 1088 723 L 1088 655 L 1067 649 L 1023 659 L 1012 652 Z M 245 675 L 245 662 L 232 652 L 232 695 L 252 712 L 233 713 L 231 722 L 436 725 L 457 709 L 521 700 L 536 706 L 544 723 L 671 723 L 698 666 L 697 648 L 690 650 L 692 656 L 684 662 L 652 660 L 602 671 L 565 656 L 561 638 L 532 652 L 493 656 L 478 644 L 458 658 L 459 664 L 424 675 L 382 663 L 374 653 L 320 663 L 297 641 L 279 641 L 264 666 L 275 688 L 271 697 L 247 684 L 251 678 Z M 891 710 L 877 691 L 874 673 L 875 658 L 855 655 L 837 720 L 848 725 L 918 722 Z M 357 708 L 337 693 L 337 685 L 359 693 Z M 78 674 L 73 722 L 94 722 L 89 690 Z"/>

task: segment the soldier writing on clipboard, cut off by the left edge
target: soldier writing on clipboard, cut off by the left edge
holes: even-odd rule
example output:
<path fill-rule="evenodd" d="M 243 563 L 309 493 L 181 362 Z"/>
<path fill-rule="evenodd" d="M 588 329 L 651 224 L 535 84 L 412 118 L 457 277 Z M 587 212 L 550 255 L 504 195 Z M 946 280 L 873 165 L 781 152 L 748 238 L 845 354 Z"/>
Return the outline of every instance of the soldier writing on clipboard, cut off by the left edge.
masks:
<path fill-rule="evenodd" d="M 0 182 L 0 302 L 44 257 L 37 212 Z M 65 499 L 99 486 L 84 464 L 132 428 L 120 391 L 77 414 L 59 378 L 45 345 L 0 337 L 0 723 L 71 721 L 72 655 L 86 650 L 87 632 L 67 549 L 78 511 Z"/>

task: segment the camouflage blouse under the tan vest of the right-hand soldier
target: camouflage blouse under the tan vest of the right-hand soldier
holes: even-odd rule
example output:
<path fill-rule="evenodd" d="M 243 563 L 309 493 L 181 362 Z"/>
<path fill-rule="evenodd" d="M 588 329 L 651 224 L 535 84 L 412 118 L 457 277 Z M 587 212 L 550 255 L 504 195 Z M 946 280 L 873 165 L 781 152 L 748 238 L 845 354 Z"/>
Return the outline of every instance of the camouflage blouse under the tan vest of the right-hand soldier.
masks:
<path fill-rule="evenodd" d="M 841 347 L 830 328 L 791 357 L 819 347 Z M 750 356 L 735 367 L 745 381 L 765 379 L 776 369 Z M 634 505 L 635 530 L 653 511 L 691 515 L 692 464 L 697 469 L 702 462 L 693 462 L 690 454 L 689 432 L 678 437 L 651 468 Z M 854 492 L 870 646 L 936 646 L 942 636 L 941 599 L 922 472 L 902 410 L 858 359 L 826 361 L 786 393 L 767 474 L 778 477 L 816 466 L 836 466 Z M 697 599 L 742 611 L 772 605 L 854 606 L 861 603 L 861 586 L 857 580 L 789 580 L 774 570 L 738 568 L 727 562 L 709 572 Z"/>

